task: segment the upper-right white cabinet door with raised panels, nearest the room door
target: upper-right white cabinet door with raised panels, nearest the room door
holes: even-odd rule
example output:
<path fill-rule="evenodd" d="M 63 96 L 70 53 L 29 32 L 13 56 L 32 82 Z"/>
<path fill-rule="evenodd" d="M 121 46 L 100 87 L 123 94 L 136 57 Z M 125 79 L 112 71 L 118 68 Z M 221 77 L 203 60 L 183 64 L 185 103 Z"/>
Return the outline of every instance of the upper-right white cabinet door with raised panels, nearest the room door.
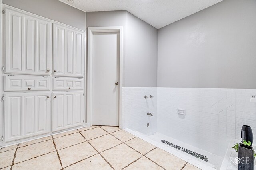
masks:
<path fill-rule="evenodd" d="M 54 76 L 84 76 L 84 31 L 53 24 Z"/>

